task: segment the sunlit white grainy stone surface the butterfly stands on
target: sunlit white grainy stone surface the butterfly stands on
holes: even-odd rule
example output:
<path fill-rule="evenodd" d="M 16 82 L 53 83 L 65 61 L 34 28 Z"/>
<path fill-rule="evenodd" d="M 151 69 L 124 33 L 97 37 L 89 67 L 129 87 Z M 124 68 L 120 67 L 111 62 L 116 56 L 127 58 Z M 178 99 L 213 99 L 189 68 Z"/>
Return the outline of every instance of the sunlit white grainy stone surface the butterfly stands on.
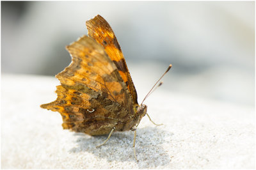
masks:
<path fill-rule="evenodd" d="M 56 99 L 54 77 L 1 76 L 1 167 L 81 168 L 255 168 L 255 112 L 250 106 L 157 89 L 147 118 L 133 132 L 91 137 L 63 130 L 58 112 L 40 104 Z"/>

